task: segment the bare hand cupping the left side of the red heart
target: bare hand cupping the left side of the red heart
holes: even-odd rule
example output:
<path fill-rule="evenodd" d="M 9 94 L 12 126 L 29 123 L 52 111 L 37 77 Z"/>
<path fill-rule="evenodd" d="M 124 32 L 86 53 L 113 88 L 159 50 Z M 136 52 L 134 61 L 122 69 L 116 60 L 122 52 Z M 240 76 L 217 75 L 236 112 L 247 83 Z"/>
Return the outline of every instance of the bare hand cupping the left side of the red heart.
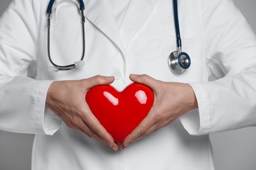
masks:
<path fill-rule="evenodd" d="M 46 107 L 53 110 L 68 127 L 82 131 L 116 151 L 119 148 L 117 143 L 98 122 L 85 101 L 85 95 L 90 88 L 113 81 L 112 76 L 93 76 L 83 80 L 53 82 L 47 92 Z"/>

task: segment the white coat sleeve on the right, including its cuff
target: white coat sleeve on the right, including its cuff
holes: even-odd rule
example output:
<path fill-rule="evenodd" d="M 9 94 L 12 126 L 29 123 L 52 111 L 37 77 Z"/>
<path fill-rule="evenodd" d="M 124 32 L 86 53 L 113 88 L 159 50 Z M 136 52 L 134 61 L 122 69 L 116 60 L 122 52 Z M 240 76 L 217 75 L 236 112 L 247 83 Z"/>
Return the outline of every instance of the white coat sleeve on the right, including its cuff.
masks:
<path fill-rule="evenodd" d="M 202 9 L 212 81 L 190 83 L 199 109 L 181 122 L 191 135 L 256 126 L 255 35 L 232 0 L 205 0 Z"/>

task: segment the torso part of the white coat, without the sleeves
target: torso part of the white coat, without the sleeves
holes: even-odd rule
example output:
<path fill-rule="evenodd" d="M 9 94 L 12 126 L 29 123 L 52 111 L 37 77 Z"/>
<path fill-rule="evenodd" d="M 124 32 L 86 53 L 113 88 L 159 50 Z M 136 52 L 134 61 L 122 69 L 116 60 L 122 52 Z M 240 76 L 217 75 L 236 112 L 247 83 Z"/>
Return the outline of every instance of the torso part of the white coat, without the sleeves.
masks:
<path fill-rule="evenodd" d="M 47 56 L 45 9 L 49 2 L 40 3 L 37 79 L 116 75 L 112 85 L 117 90 L 131 83 L 131 73 L 169 82 L 207 80 L 202 27 L 198 24 L 201 1 L 179 1 L 182 49 L 192 58 L 190 69 L 180 76 L 173 75 L 167 65 L 169 54 L 177 49 L 171 0 L 131 0 L 120 27 L 105 1 L 85 1 L 85 66 L 59 73 L 48 71 L 51 63 Z M 78 61 L 82 34 L 77 7 L 63 1 L 54 10 L 51 25 L 54 62 L 66 65 Z M 179 120 L 117 152 L 62 124 L 53 136 L 35 136 L 32 169 L 205 170 L 213 169 L 211 154 L 208 135 L 189 135 Z"/>

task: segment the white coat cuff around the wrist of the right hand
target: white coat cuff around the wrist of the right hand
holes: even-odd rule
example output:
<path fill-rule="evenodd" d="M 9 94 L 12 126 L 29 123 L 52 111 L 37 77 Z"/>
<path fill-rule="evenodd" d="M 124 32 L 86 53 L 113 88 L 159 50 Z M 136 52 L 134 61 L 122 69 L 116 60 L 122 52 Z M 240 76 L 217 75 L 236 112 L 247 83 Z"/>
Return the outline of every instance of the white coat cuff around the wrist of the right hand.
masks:
<path fill-rule="evenodd" d="M 210 132 L 211 116 L 207 93 L 200 83 L 190 83 L 198 101 L 198 109 L 190 110 L 180 120 L 190 135 L 205 135 Z"/>

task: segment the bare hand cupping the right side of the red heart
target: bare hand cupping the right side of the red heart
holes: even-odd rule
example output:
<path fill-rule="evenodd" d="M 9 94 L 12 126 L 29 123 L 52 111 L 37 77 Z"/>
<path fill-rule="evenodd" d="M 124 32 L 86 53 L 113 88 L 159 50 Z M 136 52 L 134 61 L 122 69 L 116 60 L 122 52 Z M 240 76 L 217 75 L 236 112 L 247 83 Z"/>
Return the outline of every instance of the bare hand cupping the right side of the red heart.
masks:
<path fill-rule="evenodd" d="M 196 96 L 189 84 L 161 82 L 148 75 L 130 75 L 130 78 L 153 90 L 154 103 L 146 118 L 124 139 L 120 146 L 122 150 L 138 139 L 171 124 L 189 110 L 198 108 Z"/>

